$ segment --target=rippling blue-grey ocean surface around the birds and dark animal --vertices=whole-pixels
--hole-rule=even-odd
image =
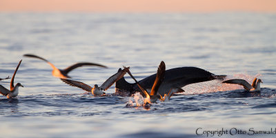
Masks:
[[[69,73],[90,86],[122,66],[144,79],[160,61],[166,69],[195,66],[264,83],[261,92],[195,83],[169,102],[129,108],[134,97],[111,95],[115,85],[108,97],[93,97],[52,77],[46,62],[23,57],[28,53],[57,68],[80,61],[108,66]],[[276,137],[276,14],[1,12],[0,78],[12,77],[21,59],[14,81],[24,87],[17,98],[0,97],[0,137]],[[10,79],[0,84],[9,88]]]

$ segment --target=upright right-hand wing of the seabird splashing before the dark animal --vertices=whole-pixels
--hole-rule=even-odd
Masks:
[[[153,86],[150,91],[150,95],[157,95],[157,91],[159,89],[159,86],[161,85],[164,76],[165,76],[165,71],[166,71],[166,65],[164,61],[161,61],[158,70],[157,70],[157,75],[155,78],[155,83],[153,83]]]

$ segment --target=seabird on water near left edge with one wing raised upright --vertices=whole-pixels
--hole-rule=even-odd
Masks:
[[[22,60],[21,60],[22,61]],[[15,74],[17,74],[17,70],[21,64],[21,61],[19,61],[17,68],[15,69],[13,76],[12,76],[12,80],[10,81],[10,90],[8,90],[7,88],[3,87],[0,85],[0,93],[4,96],[6,96],[8,99],[12,98],[12,97],[16,97],[19,93],[19,86],[23,87],[21,85],[21,83],[17,83],[17,85],[14,86],[14,77]]]

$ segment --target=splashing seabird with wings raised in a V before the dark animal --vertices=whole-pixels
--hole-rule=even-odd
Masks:
[[[128,75],[134,79],[135,83],[139,86],[142,92],[144,92],[144,95],[146,95],[146,100],[144,101],[144,105],[147,105],[147,103],[155,103],[157,99],[161,99],[161,101],[164,101],[165,99],[169,99],[172,96],[172,90],[168,93],[169,97],[167,94],[165,94],[165,97],[161,97],[160,94],[157,94],[157,91],[159,90],[159,86],[161,85],[162,81],[164,80],[165,76],[165,70],[166,70],[166,65],[164,61],[161,61],[159,64],[158,70],[157,70],[157,75],[155,77],[155,83],[153,84],[150,92],[148,92],[143,86],[139,84],[139,82],[135,79],[135,77],[132,76],[131,72],[128,70]],[[184,90],[183,90],[184,91]]]

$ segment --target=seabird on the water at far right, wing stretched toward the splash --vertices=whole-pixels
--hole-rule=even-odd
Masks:
[[[244,89],[248,90],[249,92],[259,92],[261,90],[261,83],[263,83],[263,81],[262,79],[255,78],[252,85],[250,85],[250,83],[244,79],[229,79],[227,81],[223,81],[222,83],[238,84],[240,86],[244,86]]]

